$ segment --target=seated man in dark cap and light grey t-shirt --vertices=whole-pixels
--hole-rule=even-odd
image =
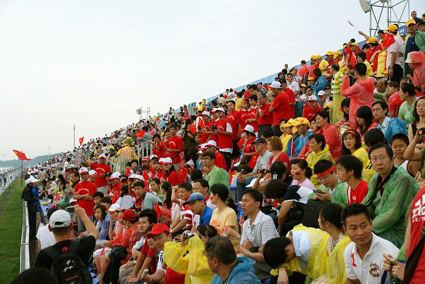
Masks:
[[[263,137],[258,137],[256,140],[252,142],[254,147],[256,148],[256,153],[260,155],[257,159],[256,166],[253,171],[248,174],[240,174],[239,179],[236,182],[237,188],[237,201],[239,202],[242,198],[242,192],[246,189],[246,185],[248,185],[252,179],[258,177],[259,169],[268,169],[270,158],[273,156],[273,153],[269,152],[266,148],[267,141]],[[209,186],[212,184],[209,183]]]

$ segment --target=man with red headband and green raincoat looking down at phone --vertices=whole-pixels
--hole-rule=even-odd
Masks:
[[[331,161],[320,160],[314,165],[317,180],[321,183],[320,192],[314,192],[309,199],[331,201],[341,206],[346,206],[344,196],[347,195],[347,183],[339,181],[336,169]]]

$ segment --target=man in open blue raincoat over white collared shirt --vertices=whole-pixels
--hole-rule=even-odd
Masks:
[[[372,104],[372,112],[375,119],[379,122],[376,128],[384,133],[388,143],[390,143],[391,137],[395,134],[403,133],[407,135],[407,122],[397,117],[388,117],[388,104],[385,101],[374,102]]]

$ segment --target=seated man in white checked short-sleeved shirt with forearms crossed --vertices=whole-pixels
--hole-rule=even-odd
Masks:
[[[267,241],[279,236],[272,217],[261,212],[262,204],[263,196],[258,191],[246,190],[242,193],[242,211],[248,219],[243,223],[240,256],[246,256],[256,261],[253,268],[261,281],[270,278],[272,269],[265,263],[262,247]]]

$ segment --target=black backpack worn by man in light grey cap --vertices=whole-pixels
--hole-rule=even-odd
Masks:
[[[53,247],[43,250],[52,261],[52,273],[59,284],[92,283],[87,265],[76,254],[80,241],[71,241],[66,252],[59,252]]]

